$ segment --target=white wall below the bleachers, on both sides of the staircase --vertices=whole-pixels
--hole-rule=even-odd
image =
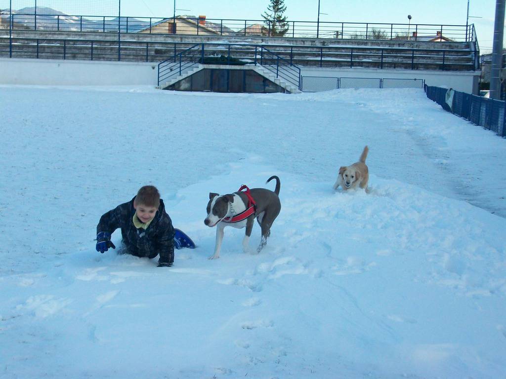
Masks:
[[[156,85],[157,70],[157,63],[1,58],[0,84]],[[468,93],[473,93],[479,75],[480,71],[301,68],[301,76],[416,78]]]

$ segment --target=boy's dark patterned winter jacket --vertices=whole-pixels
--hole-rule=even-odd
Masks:
[[[173,263],[174,227],[165,212],[163,200],[160,199],[160,207],[146,230],[137,229],[132,221],[135,214],[134,200],[135,197],[102,215],[97,225],[97,234],[101,231],[112,234],[114,230],[121,228],[126,253],[148,258],[160,254],[159,263]]]

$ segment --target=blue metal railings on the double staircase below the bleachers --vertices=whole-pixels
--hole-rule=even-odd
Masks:
[[[190,70],[197,64],[204,64],[205,58],[205,43],[197,43],[191,48],[176,54],[173,59],[167,59],[158,63],[158,86],[160,83],[167,81],[174,76],[181,75],[184,72]],[[255,48],[254,61],[249,62],[250,64],[260,64],[267,70],[275,74],[276,78],[284,79],[289,84],[300,89],[301,87],[301,69],[293,65],[289,60],[284,59],[275,53],[269,51],[263,46],[249,45]],[[260,53],[258,52],[260,50]],[[207,48],[208,52],[212,52],[212,49]],[[260,56],[260,61],[259,61]],[[227,60],[223,64],[230,64],[233,57],[230,55],[230,44],[228,44],[228,55]]]

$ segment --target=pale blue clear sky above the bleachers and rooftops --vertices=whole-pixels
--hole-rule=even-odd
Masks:
[[[35,0],[12,0],[13,9],[33,6]],[[316,21],[320,4],[321,22],[379,22],[412,24],[466,25],[467,0],[426,0],[424,2],[355,0],[285,0],[285,15],[291,21]],[[207,19],[260,20],[269,0],[122,0],[121,14],[137,17],[168,17],[176,14],[205,15]],[[110,0],[39,0],[37,6],[47,6],[67,14],[117,15],[118,1]],[[9,8],[0,0],[0,8]],[[492,49],[495,2],[470,0],[469,23],[477,29],[482,53]],[[481,18],[475,18],[481,17]]]

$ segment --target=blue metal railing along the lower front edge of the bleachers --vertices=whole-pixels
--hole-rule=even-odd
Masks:
[[[5,41],[5,42],[3,42]],[[9,41],[9,43],[7,43]],[[12,42],[12,43],[11,43]],[[30,38],[0,37],[0,57],[61,59],[63,44],[66,43],[65,59],[78,60],[121,60],[136,62],[160,62],[163,59],[176,59],[183,49],[192,46],[188,42],[136,41],[122,40],[119,46],[116,40],[71,39],[71,38]],[[40,54],[36,55],[35,46],[40,44]],[[227,57],[254,61],[262,45],[205,43],[205,50]],[[475,69],[473,51],[458,49],[409,49],[385,48],[375,46],[322,46],[306,45],[267,46],[275,55],[295,64],[308,67],[371,67],[403,69]],[[257,49],[257,50],[256,50]],[[171,57],[171,58],[170,58]],[[284,62],[284,61],[282,61]]]

